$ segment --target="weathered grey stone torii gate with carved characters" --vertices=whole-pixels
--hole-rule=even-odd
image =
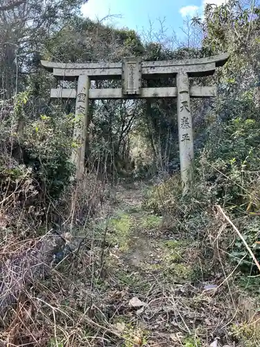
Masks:
[[[73,151],[72,162],[76,164],[76,177],[83,176],[89,99],[149,99],[176,98],[180,148],[180,171],[184,194],[193,181],[193,126],[190,98],[216,96],[216,87],[189,85],[189,77],[209,76],[216,67],[223,66],[228,54],[201,59],[165,60],[142,62],[141,58],[125,58],[116,63],[58,63],[42,60],[42,65],[62,80],[78,78],[78,88],[51,89],[51,98],[76,99],[75,141],[79,144]],[[141,87],[142,79],[151,77],[175,77],[176,87]],[[121,88],[90,89],[91,80],[120,79]]]

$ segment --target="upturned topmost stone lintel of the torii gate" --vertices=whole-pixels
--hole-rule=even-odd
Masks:
[[[219,56],[211,56],[200,59],[187,60],[158,60],[152,62],[141,62],[141,58],[125,58],[123,62],[81,62],[60,63],[42,60],[42,65],[64,80],[71,80],[82,74],[93,80],[121,78],[127,74],[128,69],[138,71],[143,78],[150,75],[167,76],[176,75],[180,72],[187,73],[190,77],[208,76],[214,74],[216,67],[223,66],[229,58],[228,53]]]

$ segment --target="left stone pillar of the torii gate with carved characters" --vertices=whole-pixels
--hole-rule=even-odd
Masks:
[[[71,162],[76,166],[76,179],[83,178],[85,170],[85,150],[87,139],[87,117],[89,111],[90,79],[87,75],[78,76],[76,96],[75,125],[73,142],[76,149],[71,154]]]

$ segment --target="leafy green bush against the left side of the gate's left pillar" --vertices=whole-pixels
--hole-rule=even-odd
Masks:
[[[53,198],[68,185],[73,169],[69,162],[73,149],[71,115],[58,117],[42,115],[26,126],[20,139],[24,162],[33,167],[35,179]]]

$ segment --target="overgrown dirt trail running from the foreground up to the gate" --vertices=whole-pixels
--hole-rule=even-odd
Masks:
[[[168,223],[143,207],[145,189],[119,188],[108,222],[100,223],[107,230],[103,300],[110,329],[122,337],[113,346],[195,347],[209,346],[216,337],[226,341],[221,328],[225,303],[198,280],[198,244],[174,235],[173,219]]]

